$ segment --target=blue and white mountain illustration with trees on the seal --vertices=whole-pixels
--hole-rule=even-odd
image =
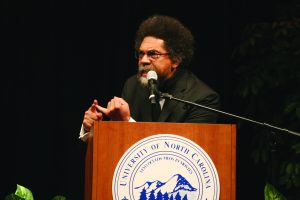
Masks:
[[[160,195],[168,195],[175,196],[180,194],[185,194],[185,198],[187,199],[187,193],[197,191],[196,188],[194,188],[185,177],[183,177],[180,174],[175,174],[171,178],[169,178],[166,182],[161,182],[159,180],[156,181],[147,181],[141,186],[135,187],[134,189],[138,190],[141,194],[140,199],[148,199],[146,196],[150,194],[150,196],[160,196]],[[180,192],[180,194],[179,194]],[[142,196],[144,196],[142,198]],[[151,197],[149,197],[151,199]],[[156,198],[157,199],[157,198]]]

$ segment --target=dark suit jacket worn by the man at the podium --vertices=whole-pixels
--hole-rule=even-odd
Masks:
[[[177,70],[174,77],[159,89],[173,97],[219,109],[219,95],[186,69]],[[140,122],[151,122],[149,90],[141,86],[136,75],[130,77],[123,88],[122,98],[130,107],[131,117]],[[158,118],[160,122],[216,123],[217,113],[166,99]]]

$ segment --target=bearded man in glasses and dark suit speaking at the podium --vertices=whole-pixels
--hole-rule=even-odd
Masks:
[[[114,121],[216,122],[215,112],[169,99],[158,99],[161,112],[153,115],[147,80],[150,70],[158,75],[160,92],[214,109],[220,106],[219,95],[186,69],[194,54],[194,38],[181,22],[169,16],[149,17],[137,31],[135,50],[137,75],[126,81],[122,98],[114,97],[106,108],[94,100],[85,112],[80,138],[85,140],[94,121],[102,120],[103,114]]]

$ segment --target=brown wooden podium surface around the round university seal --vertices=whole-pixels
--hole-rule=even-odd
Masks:
[[[175,134],[198,144],[216,167],[220,199],[236,199],[235,125],[100,121],[87,140],[85,200],[112,200],[112,181],[120,158],[133,144],[156,134]]]

